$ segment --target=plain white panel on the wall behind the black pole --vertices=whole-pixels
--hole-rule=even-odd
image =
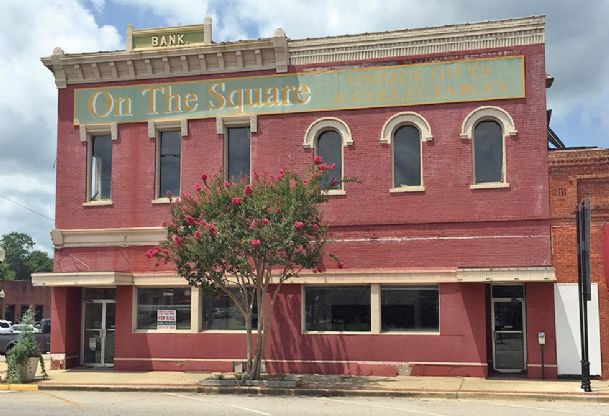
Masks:
[[[554,285],[556,317],[556,354],[559,375],[581,375],[581,342],[577,283]],[[592,283],[592,300],[588,302],[588,355],[590,375],[601,375],[601,342],[598,318],[598,285]]]

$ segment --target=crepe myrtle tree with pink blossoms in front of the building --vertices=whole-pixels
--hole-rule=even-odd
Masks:
[[[247,332],[245,379],[260,379],[281,285],[302,269],[323,272],[325,255],[343,267],[325,252],[328,229],[321,223],[327,195],[320,185],[325,181],[336,186],[334,168],[315,157],[302,177],[281,170],[278,176],[254,174],[250,183],[249,178],[225,181],[221,175],[208,179],[204,174],[193,196],[172,204],[168,238],[147,253],[157,264],[174,263],[189,285],[221,291],[234,302]]]

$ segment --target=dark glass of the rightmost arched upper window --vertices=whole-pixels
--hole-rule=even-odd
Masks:
[[[503,129],[495,120],[474,127],[474,184],[504,182]]]

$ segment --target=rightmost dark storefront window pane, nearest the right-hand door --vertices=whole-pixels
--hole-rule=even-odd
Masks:
[[[381,287],[382,331],[438,331],[437,287]]]

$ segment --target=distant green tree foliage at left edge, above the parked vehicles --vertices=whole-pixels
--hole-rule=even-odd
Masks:
[[[45,252],[33,250],[34,244],[32,237],[19,232],[0,238],[0,247],[6,251],[6,260],[0,265],[0,279],[28,280],[32,273],[53,270],[53,260]]]

